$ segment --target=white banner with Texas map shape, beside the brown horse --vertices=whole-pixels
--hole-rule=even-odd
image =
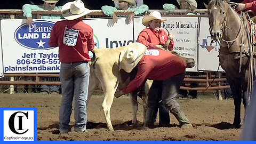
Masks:
[[[204,71],[217,71],[219,66],[218,55],[220,42],[217,41],[211,45],[208,18],[200,19],[198,35],[198,69]],[[221,66],[219,71],[224,71]]]

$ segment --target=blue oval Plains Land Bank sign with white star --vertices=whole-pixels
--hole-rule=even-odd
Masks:
[[[14,33],[15,41],[23,47],[31,50],[49,50],[50,33],[54,22],[46,20],[34,20],[31,26],[26,23],[19,26]]]

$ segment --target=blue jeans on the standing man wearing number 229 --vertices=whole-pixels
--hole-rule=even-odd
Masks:
[[[87,61],[61,63],[60,82],[62,99],[59,111],[60,133],[70,130],[69,122],[73,97],[75,98],[75,131],[86,130],[86,101],[89,86],[90,67]]]

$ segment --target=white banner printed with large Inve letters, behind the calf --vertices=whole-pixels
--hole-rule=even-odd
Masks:
[[[134,42],[133,25],[127,18],[118,18],[114,23],[112,18],[84,19],[92,27],[95,48],[115,48]]]

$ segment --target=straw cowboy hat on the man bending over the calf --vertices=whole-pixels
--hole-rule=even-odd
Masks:
[[[137,66],[146,50],[147,47],[141,43],[132,43],[126,45],[119,57],[119,69],[123,69],[127,73],[130,73],[132,69]]]

